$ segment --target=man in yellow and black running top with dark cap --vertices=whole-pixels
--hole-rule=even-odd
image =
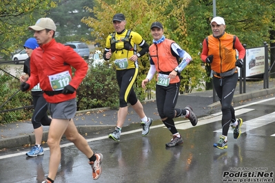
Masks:
[[[119,84],[119,112],[116,129],[110,133],[109,138],[119,142],[121,128],[128,114],[128,103],[141,118],[141,125],[143,125],[141,135],[146,136],[150,132],[153,120],[145,115],[143,105],[136,98],[133,88],[139,72],[138,58],[148,52],[149,45],[139,33],[125,29],[124,14],[115,14],[112,23],[115,32],[107,37],[103,58],[108,61],[113,54],[114,65],[116,65],[116,80]],[[141,47],[140,52],[136,50],[137,45]]]

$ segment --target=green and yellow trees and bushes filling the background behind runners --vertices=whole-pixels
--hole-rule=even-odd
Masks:
[[[96,49],[103,52],[105,38],[114,31],[112,16],[121,12],[127,20],[126,28],[139,32],[147,43],[152,43],[150,24],[161,21],[165,37],[173,39],[191,54],[193,61],[181,73],[183,79],[180,88],[181,94],[190,93],[195,88],[205,89],[205,83],[210,83],[210,75],[200,59],[200,53],[203,39],[212,34],[212,3],[212,0],[3,0],[0,2],[0,56],[8,59],[14,50],[23,49],[23,42],[32,36],[28,26],[34,25],[40,17],[50,17],[57,23],[58,42],[100,43],[102,47]],[[262,46],[264,41],[271,46],[275,45],[274,9],[274,0],[216,1],[216,15],[225,18],[226,31],[236,34],[247,48]],[[150,82],[146,90],[141,88],[141,81],[150,67],[148,59],[147,55],[139,58],[139,76],[134,87],[140,100],[150,99],[151,91],[154,91],[154,82]],[[104,66],[91,66],[77,91],[79,110],[118,105],[114,67],[108,67],[112,61],[113,58]],[[271,64],[273,63],[272,57]],[[0,73],[3,86],[0,87],[0,103],[5,103],[17,92],[19,83],[17,79]],[[0,110],[29,105],[32,105],[30,94],[18,92],[12,102]],[[0,122],[26,120],[30,118],[31,111],[28,108],[1,113]]]

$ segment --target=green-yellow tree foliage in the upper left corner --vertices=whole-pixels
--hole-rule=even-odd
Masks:
[[[0,52],[9,55],[21,47],[23,38],[32,36],[28,26],[44,17],[57,4],[52,0],[2,0],[0,1]],[[25,39],[26,40],[26,39]],[[22,47],[23,48],[23,47]]]

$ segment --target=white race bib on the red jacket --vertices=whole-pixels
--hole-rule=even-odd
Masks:
[[[72,80],[72,77],[69,71],[64,71],[59,74],[54,74],[54,75],[48,76],[48,78],[50,80],[50,85],[53,91],[58,91],[63,89],[65,86],[69,85],[70,81]]]

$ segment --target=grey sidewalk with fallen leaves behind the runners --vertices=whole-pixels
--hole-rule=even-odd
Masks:
[[[245,94],[240,94],[240,87],[238,83],[234,94],[233,103],[240,103],[242,101],[261,96],[272,96],[272,94],[275,94],[275,79],[269,80],[268,89],[263,89],[263,80],[248,80],[246,82]],[[215,98],[218,100],[217,97]],[[184,109],[186,105],[190,105],[192,107],[198,118],[221,111],[220,103],[213,103],[212,90],[180,95],[176,107]],[[145,114],[148,117],[153,118],[154,120],[159,120],[155,100],[145,101],[143,103],[143,107]],[[117,109],[110,109],[108,107],[78,111],[77,115],[74,117],[74,123],[81,134],[92,133],[102,129],[114,129],[114,127],[116,127],[117,111]],[[132,107],[129,107],[128,116],[125,120],[124,127],[132,123],[139,122],[139,116],[136,115]],[[43,141],[47,140],[48,128],[49,127],[43,127]],[[0,149],[23,147],[28,144],[34,144],[35,142],[32,122],[30,122],[30,120],[0,125],[0,137]]]

